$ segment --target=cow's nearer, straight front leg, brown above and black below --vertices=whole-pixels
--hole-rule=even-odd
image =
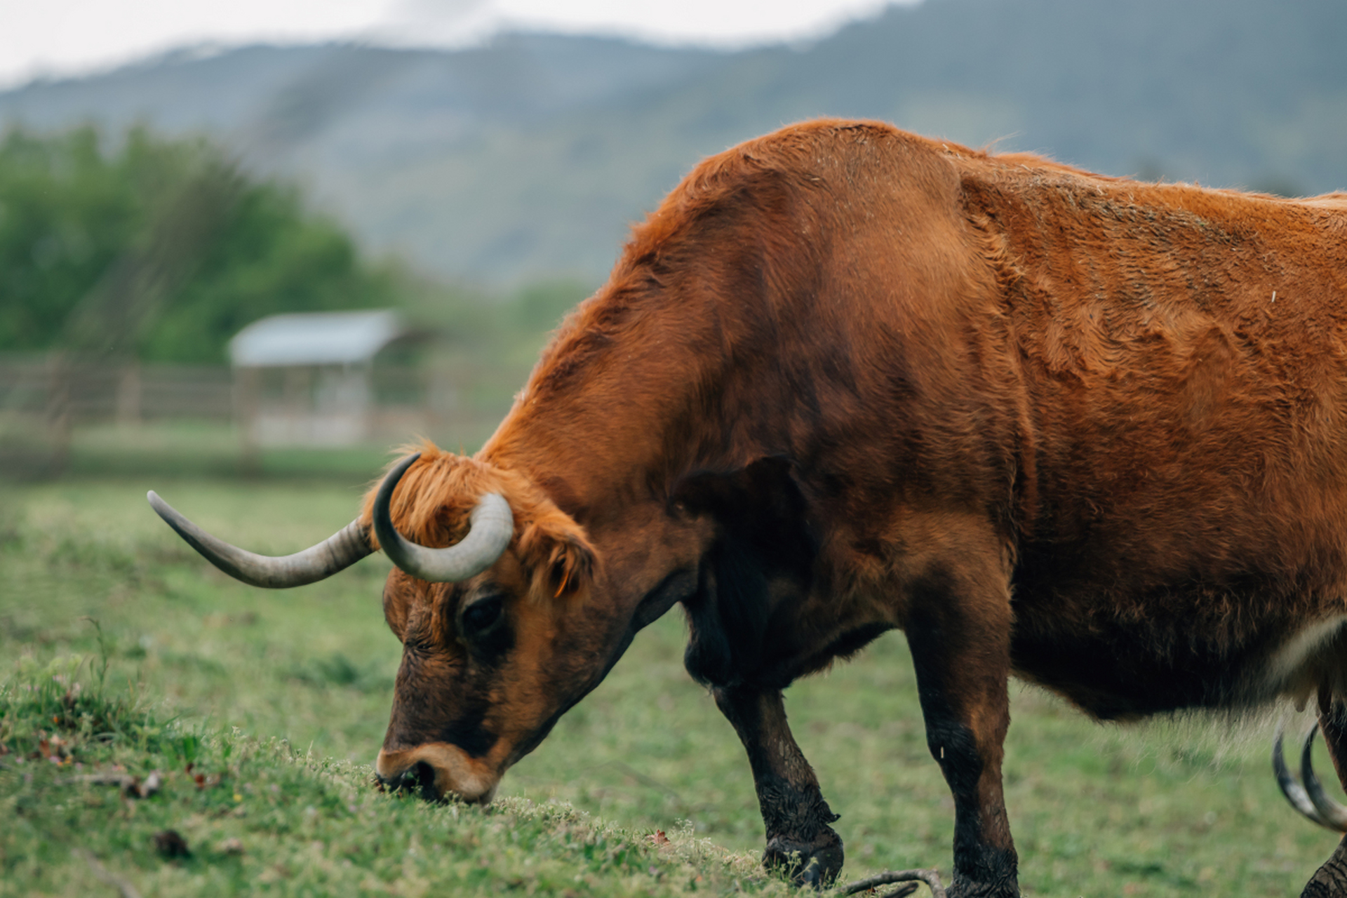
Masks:
[[[982,584],[932,578],[911,591],[905,630],[927,745],[954,793],[951,897],[1020,894],[1001,790],[1010,626],[1009,594],[994,578]]]

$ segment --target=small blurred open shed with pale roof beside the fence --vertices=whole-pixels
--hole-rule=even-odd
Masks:
[[[374,357],[418,339],[392,310],[261,318],[229,341],[252,446],[349,446],[370,436]]]

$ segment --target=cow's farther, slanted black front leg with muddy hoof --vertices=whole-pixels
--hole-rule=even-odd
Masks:
[[[715,688],[715,704],[734,724],[753,767],[758,808],[766,825],[762,866],[784,867],[796,883],[819,887],[842,870],[838,819],[785,722],[780,691]]]

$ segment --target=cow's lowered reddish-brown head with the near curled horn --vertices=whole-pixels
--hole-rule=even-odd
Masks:
[[[362,520],[397,565],[384,617],[403,642],[376,771],[489,801],[607,668],[610,619],[586,607],[594,549],[524,477],[432,448],[388,474]]]

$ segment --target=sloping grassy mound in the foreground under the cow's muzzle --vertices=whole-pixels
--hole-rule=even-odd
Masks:
[[[164,895],[787,890],[690,831],[660,848],[566,805],[383,794],[366,767],[164,723],[101,676],[81,688],[71,666],[30,668],[0,689],[0,895],[94,894],[109,880]],[[109,771],[162,785],[128,796],[98,781]]]

